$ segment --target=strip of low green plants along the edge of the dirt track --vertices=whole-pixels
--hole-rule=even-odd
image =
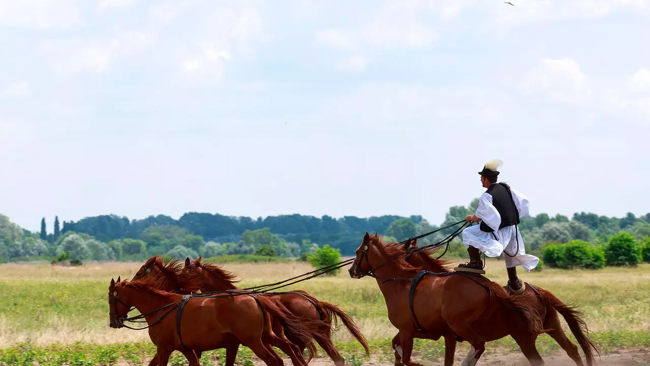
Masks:
[[[646,331],[620,331],[597,333],[595,338],[601,344],[601,350],[610,352],[620,348],[633,348],[650,346],[650,333]],[[575,341],[571,337],[572,341]],[[344,356],[350,365],[360,365],[367,360],[361,346],[355,341],[337,342],[337,349]],[[537,342],[539,354],[548,356],[561,351],[557,343],[547,335],[541,335]],[[445,356],[445,343],[415,339],[413,356],[427,361],[438,361]],[[458,354],[465,354],[469,350],[467,343],[461,343],[456,347]],[[499,339],[486,345],[486,353],[493,352],[519,353],[517,344],[510,337]],[[327,357],[319,348],[319,355]],[[74,343],[72,345],[50,345],[38,347],[29,343],[21,343],[10,348],[0,350],[0,365],[12,366],[33,366],[37,361],[40,366],[95,366],[115,365],[122,361],[131,365],[146,365],[153,354],[155,347],[151,343],[116,343],[113,345],[87,345]],[[391,348],[391,339],[372,339],[370,341],[371,355],[380,362],[391,362],[394,360],[394,351]],[[225,350],[214,350],[204,352],[201,357],[201,365],[219,365],[224,363]],[[237,353],[237,364],[247,365],[255,360],[254,355],[246,347],[240,346]],[[180,353],[174,352],[170,358],[170,365],[186,365],[187,359]]]

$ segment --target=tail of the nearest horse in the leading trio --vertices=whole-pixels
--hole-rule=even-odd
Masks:
[[[255,296],[257,303],[262,309],[274,319],[277,319],[284,329],[287,339],[294,345],[305,345],[307,349],[307,363],[317,356],[317,348],[314,343],[314,336],[318,333],[318,327],[324,323],[322,320],[298,318],[280,302],[276,302],[267,296]]]

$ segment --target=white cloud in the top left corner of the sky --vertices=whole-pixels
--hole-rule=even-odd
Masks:
[[[0,25],[42,30],[83,24],[76,0],[0,0]]]

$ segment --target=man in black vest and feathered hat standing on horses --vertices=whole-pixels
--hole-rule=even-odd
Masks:
[[[528,199],[503,182],[497,183],[500,160],[491,160],[478,172],[487,190],[478,200],[476,213],[468,215],[468,222],[482,221],[480,225],[463,230],[463,243],[469,253],[469,262],[459,264],[456,270],[485,274],[480,253],[487,257],[499,257],[505,253],[508,270],[508,288],[512,292],[524,289],[517,277],[517,266],[530,272],[539,263],[538,257],[526,254],[521,233],[517,228],[519,218],[529,215]]]

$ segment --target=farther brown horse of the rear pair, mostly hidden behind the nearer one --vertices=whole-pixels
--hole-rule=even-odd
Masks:
[[[411,240],[406,242],[402,246],[403,251],[413,251],[417,248],[417,240]],[[421,249],[419,251],[413,251],[404,256],[406,261],[415,267],[421,267],[423,270],[434,272],[434,273],[448,273],[450,270],[448,266],[451,264],[448,260],[435,259],[432,257],[440,247],[432,247],[428,249]],[[575,306],[565,305],[562,303],[556,296],[547,290],[543,290],[537,286],[532,287],[530,285],[526,286],[523,294],[528,298],[528,302],[534,304],[538,310],[540,317],[544,319],[543,327],[547,329],[546,332],[548,335],[554,339],[558,345],[560,345],[567,355],[575,361],[576,365],[583,366],[582,359],[578,353],[578,347],[571,343],[571,340],[567,337],[562,330],[562,324],[560,324],[560,317],[558,313],[564,317],[564,320],[569,325],[569,329],[573,333],[574,337],[577,339],[578,344],[584,352],[584,358],[588,366],[593,365],[593,352],[599,353],[599,350],[595,343],[591,341],[586,336],[588,333],[586,322],[582,318],[580,312],[576,310]],[[393,348],[395,348],[395,365],[401,364],[401,358],[397,352],[399,347],[399,333],[393,339]],[[539,355],[536,349],[535,344],[526,345],[526,347],[534,350],[530,352],[531,355]],[[447,359],[447,354],[445,354],[445,365],[451,365],[453,363],[453,358]],[[534,361],[528,358],[530,363]],[[541,361],[541,357],[535,361]]]

